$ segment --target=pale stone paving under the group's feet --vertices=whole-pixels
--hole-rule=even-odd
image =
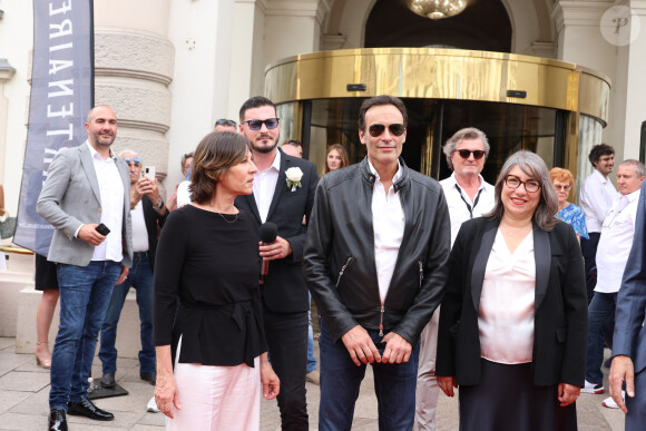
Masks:
[[[32,354],[16,354],[14,339],[0,337],[0,430],[45,430],[49,413],[49,373],[36,365]],[[317,356],[317,343],[315,343]],[[609,351],[606,351],[606,355]],[[117,380],[130,393],[126,396],[98,400],[97,404],[115,413],[115,421],[97,422],[85,418],[68,417],[70,430],[133,430],[160,431],[165,427],[161,413],[147,413],[146,404],[153,396],[153,386],[139,380],[136,360],[119,359]],[[100,375],[100,361],[95,359],[94,375]],[[607,371],[606,371],[607,373]],[[607,376],[606,382],[607,384]],[[606,409],[601,401],[606,395],[581,394],[577,402],[579,430],[624,429],[619,410]],[[310,429],[319,424],[319,386],[307,383]],[[280,414],[275,401],[263,401],[261,430],[280,430]],[[458,401],[440,394],[438,430],[458,430]],[[378,430],[376,398],[372,373],[366,372],[356,402],[353,430]]]

